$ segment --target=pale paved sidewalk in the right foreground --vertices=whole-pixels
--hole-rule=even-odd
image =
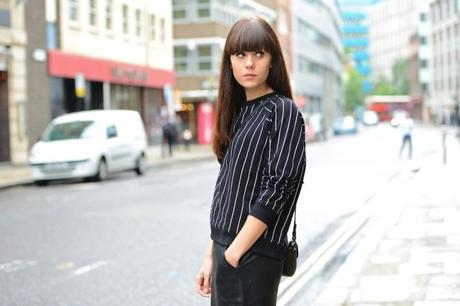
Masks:
[[[460,305],[460,145],[410,167],[314,306]]]

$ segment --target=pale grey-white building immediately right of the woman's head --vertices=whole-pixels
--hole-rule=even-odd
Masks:
[[[293,89],[302,110],[323,116],[325,128],[341,115],[343,48],[337,1],[293,0]]]

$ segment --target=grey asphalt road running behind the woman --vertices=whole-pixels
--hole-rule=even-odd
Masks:
[[[301,258],[398,171],[438,154],[441,134],[416,128],[411,161],[398,157],[400,142],[381,124],[308,144]],[[194,279],[217,173],[216,161],[202,161],[0,191],[0,305],[208,305]]]

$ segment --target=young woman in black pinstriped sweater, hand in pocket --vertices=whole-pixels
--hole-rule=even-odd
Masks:
[[[221,164],[196,290],[213,306],[272,306],[305,173],[305,127],[280,44],[262,18],[225,43],[213,149]]]

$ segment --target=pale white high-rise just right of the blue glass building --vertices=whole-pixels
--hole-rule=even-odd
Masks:
[[[408,63],[412,112],[423,118],[423,104],[430,97],[429,0],[387,0],[370,10],[370,59],[373,82],[393,78],[398,61]]]

